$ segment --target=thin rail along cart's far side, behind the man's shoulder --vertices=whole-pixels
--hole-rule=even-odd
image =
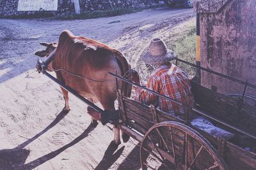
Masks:
[[[201,66],[196,66],[195,64],[192,64],[190,62],[187,62],[185,60],[182,60],[182,59],[176,59],[176,60],[179,60],[180,62],[183,62],[185,64],[188,64],[189,66],[193,66],[193,67],[196,67],[196,68],[200,68],[204,71],[207,71],[209,73],[212,73],[212,74],[216,74],[217,76],[221,76],[223,78],[227,78],[228,80],[232,80],[232,81],[236,81],[237,83],[241,83],[242,85],[248,85],[249,87],[252,87],[253,89],[256,89],[256,85],[252,85],[251,83],[246,83],[245,81],[242,81],[242,80],[238,80],[236,78],[233,78],[233,77],[230,77],[230,76],[227,76],[225,74],[221,74],[221,73],[218,73],[216,71],[212,71],[211,69],[206,69],[205,67],[201,67]]]

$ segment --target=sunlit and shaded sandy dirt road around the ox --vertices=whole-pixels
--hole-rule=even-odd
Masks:
[[[111,147],[112,125],[89,127],[86,104],[70,95],[71,111],[61,112],[60,87],[36,73],[33,53],[68,29],[117,48],[136,67],[150,39],[169,37],[187,20],[193,10],[168,8],[91,20],[1,19],[0,169],[140,169],[138,142]]]

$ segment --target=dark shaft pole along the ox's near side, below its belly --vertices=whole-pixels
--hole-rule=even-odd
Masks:
[[[83,101],[84,103],[88,104],[89,106],[91,106],[94,110],[99,111],[100,113],[103,111],[102,109],[100,109],[98,106],[96,106],[95,104],[93,104],[92,102],[88,101],[87,99],[85,99],[83,96],[81,96],[80,94],[78,94],[75,90],[71,89],[70,87],[68,87],[67,85],[65,85],[64,83],[62,83],[60,80],[56,79],[54,76],[52,76],[51,74],[47,73],[47,71],[44,71],[43,74],[45,74],[45,76],[51,78],[51,80],[53,80],[55,83],[57,83],[58,85],[60,85],[61,87],[63,87],[63,89],[67,90],[68,92],[74,94],[74,96],[76,96],[78,99],[80,99],[81,101]]]

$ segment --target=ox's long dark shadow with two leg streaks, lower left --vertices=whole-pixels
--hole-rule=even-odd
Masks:
[[[65,115],[67,115],[67,111],[61,111],[58,116],[53,120],[51,124],[49,124],[45,129],[38,134],[36,134],[33,138],[28,139],[28,141],[25,141],[24,143],[20,144],[19,146],[13,148],[13,149],[4,149],[0,150],[0,170],[2,169],[34,169],[37,166],[40,166],[47,160],[50,160],[54,157],[56,157],[58,154],[69,148],[70,146],[75,145],[82,139],[86,138],[88,134],[95,129],[95,126],[89,125],[87,129],[76,139],[74,139],[72,142],[68,143],[67,145],[61,147],[58,150],[55,150],[54,152],[48,153],[47,155],[44,155],[36,160],[33,160],[32,162],[29,162],[28,164],[25,164],[26,159],[29,156],[30,151],[24,149],[24,147],[28,146],[29,143],[35,141],[35,139],[39,138],[42,134],[49,131],[54,125],[58,124],[60,120],[62,120]]]

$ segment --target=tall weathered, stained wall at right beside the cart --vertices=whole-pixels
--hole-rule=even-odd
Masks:
[[[256,1],[196,0],[201,66],[256,85]],[[223,94],[243,93],[239,83],[202,71],[202,85]],[[256,90],[247,94],[256,96]]]

